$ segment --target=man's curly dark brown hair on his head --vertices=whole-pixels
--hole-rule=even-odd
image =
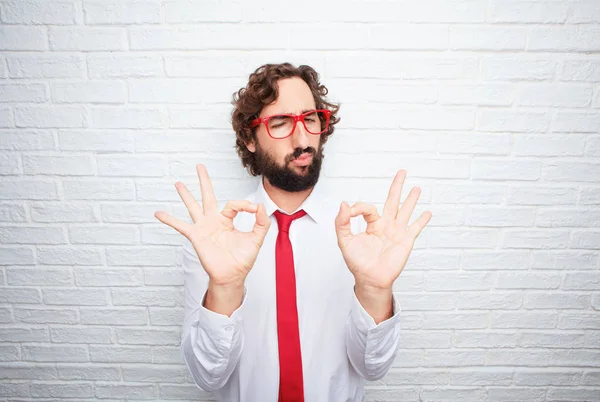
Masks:
[[[321,145],[327,142],[333,134],[334,126],[340,121],[337,117],[340,105],[326,100],[327,87],[319,82],[319,74],[314,68],[307,65],[295,67],[290,63],[260,66],[250,74],[246,87],[233,94],[232,103],[235,108],[231,114],[231,124],[236,135],[236,151],[242,159],[242,165],[248,168],[252,176],[258,176],[262,172],[258,169],[256,155],[246,147],[246,143],[256,140],[256,130],[250,127],[250,122],[258,117],[264,106],[277,99],[277,80],[291,77],[302,78],[308,84],[317,109],[331,110],[329,127],[321,134]]]

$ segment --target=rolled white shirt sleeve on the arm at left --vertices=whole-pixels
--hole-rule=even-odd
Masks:
[[[244,344],[242,305],[231,317],[203,306],[208,288],[208,274],[202,267],[193,246],[183,247],[184,320],[181,353],[194,382],[204,391],[223,387],[237,366]]]

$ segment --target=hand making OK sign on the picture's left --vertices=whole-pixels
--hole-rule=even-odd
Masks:
[[[157,211],[154,216],[192,243],[210,278],[209,292],[211,286],[218,292],[228,288],[243,289],[246,276],[252,269],[271,226],[271,220],[264,205],[254,205],[247,200],[229,201],[223,211],[219,211],[206,167],[198,164],[196,171],[200,179],[202,206],[183,183],[175,183],[193,223],[174,218],[164,211]],[[233,218],[242,211],[256,214],[251,232],[240,232],[233,226]]]

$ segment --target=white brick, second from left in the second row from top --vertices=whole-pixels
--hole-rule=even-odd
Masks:
[[[127,49],[127,32],[114,27],[50,27],[50,50],[103,51]]]

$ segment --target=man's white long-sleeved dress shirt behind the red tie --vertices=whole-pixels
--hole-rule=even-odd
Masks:
[[[279,393],[279,352],[275,298],[277,205],[262,180],[247,200],[263,203],[271,227],[248,274],[241,306],[231,317],[203,307],[208,275],[186,241],[185,317],[181,351],[196,384],[215,391],[219,401],[276,402]],[[304,396],[307,402],[363,401],[363,378],[382,378],[399,344],[400,304],[393,297],[393,316],[378,325],[354,293],[354,277],[337,244],[335,217],[339,202],[325,196],[317,184],[298,207],[307,215],[292,222],[298,325]],[[282,211],[283,212],[283,211]],[[285,212],[284,212],[285,213]],[[255,215],[240,213],[234,226],[251,231]],[[352,231],[364,230],[362,217]]]

